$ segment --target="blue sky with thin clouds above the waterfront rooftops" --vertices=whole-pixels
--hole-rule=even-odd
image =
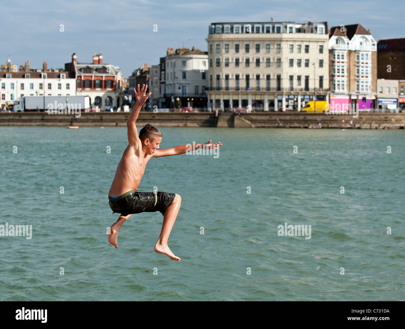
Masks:
[[[405,37],[405,2],[394,0],[205,0],[4,1],[0,5],[0,63],[30,61],[30,68],[64,67],[72,53],[78,62],[118,65],[125,77],[142,63],[158,64],[168,47],[207,51],[208,26],[232,21],[328,21],[329,28],[360,23],[374,38]],[[309,18],[310,17],[310,18]],[[64,24],[64,32],[60,32]],[[158,32],[153,32],[153,24]]]

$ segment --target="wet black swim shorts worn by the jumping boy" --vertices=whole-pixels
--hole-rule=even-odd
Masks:
[[[141,212],[160,211],[162,215],[173,202],[176,195],[167,192],[136,192],[135,190],[122,194],[117,199],[110,196],[109,205],[114,213],[127,216]]]

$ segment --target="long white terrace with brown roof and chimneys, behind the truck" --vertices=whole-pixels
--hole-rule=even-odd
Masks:
[[[28,60],[24,66],[11,63],[10,58],[6,65],[2,65],[0,72],[0,105],[13,105],[14,101],[23,96],[75,96],[75,75],[63,69],[48,70],[47,62],[43,68],[30,69]]]

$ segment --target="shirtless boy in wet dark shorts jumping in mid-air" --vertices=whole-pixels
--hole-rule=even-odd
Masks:
[[[204,144],[179,145],[170,149],[158,150],[159,144],[162,141],[162,133],[158,128],[151,126],[151,124],[146,124],[139,132],[138,137],[135,122],[142,105],[145,104],[148,97],[152,94],[149,92],[146,95],[147,88],[147,85],[142,85],[142,89],[139,90],[138,85],[138,92],[134,88],[136,104],[127,122],[128,146],[118,164],[108,193],[109,205],[113,210],[113,214],[118,213],[121,216],[111,225],[108,241],[115,248],[118,248],[118,231],[132,214],[160,211],[163,215],[162,231],[154,250],[169,256],[175,261],[179,261],[180,258],[175,256],[167,246],[167,240],[179,213],[181,197],[179,194],[166,192],[137,192],[139,182],[141,182],[146,164],[151,158],[184,154],[187,151],[194,151],[198,148],[217,149],[222,144],[211,144],[211,141],[209,141]]]

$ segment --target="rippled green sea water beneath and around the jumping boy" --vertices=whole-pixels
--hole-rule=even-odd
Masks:
[[[139,185],[181,195],[180,262],[153,251],[159,212],[107,241],[126,128],[0,127],[0,225],[32,225],[0,236],[1,300],[405,300],[404,130],[161,131],[161,149],[224,144],[151,159]]]

